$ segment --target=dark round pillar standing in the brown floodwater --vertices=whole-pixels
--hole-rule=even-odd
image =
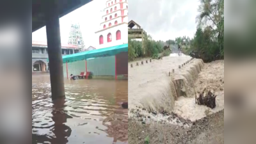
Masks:
[[[60,20],[58,15],[58,1],[47,1],[46,14],[46,34],[49,56],[49,69],[51,79],[52,99],[65,97],[63,60],[61,54]]]

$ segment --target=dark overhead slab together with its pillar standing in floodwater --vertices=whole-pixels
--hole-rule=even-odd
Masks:
[[[65,97],[59,19],[90,1],[92,0],[32,1],[32,33],[46,26],[52,99]],[[45,63],[38,65],[40,70],[45,70],[45,67]]]

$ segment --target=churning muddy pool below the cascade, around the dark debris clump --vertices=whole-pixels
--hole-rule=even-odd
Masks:
[[[216,113],[224,109],[224,61],[205,63],[193,86],[196,93],[203,92],[204,90],[214,92],[217,95],[216,108],[210,109],[206,106],[195,104],[195,92],[188,90],[192,97],[179,97],[175,101],[174,113],[182,116],[182,118],[195,121],[207,114]]]

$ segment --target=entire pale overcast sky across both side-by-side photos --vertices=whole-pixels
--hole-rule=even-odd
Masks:
[[[175,39],[177,36],[193,37],[196,31],[198,0],[129,0],[129,20],[134,20],[154,40]],[[99,38],[95,31],[102,22],[100,10],[106,0],[92,2],[68,13],[60,19],[61,43],[68,43],[70,24],[79,22],[85,47],[96,47]],[[45,27],[32,33],[32,40],[46,42]]]

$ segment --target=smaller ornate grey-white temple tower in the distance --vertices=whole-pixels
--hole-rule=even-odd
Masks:
[[[76,45],[77,47],[79,47],[79,51],[84,49],[84,40],[79,24],[71,24],[68,37],[68,44]]]

